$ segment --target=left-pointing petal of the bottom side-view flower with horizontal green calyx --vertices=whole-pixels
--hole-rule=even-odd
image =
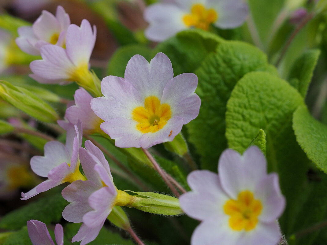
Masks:
[[[73,223],[83,222],[83,216],[92,211],[88,198],[101,186],[89,180],[77,180],[65,187],[61,191],[62,197],[71,203],[62,211],[62,217]]]

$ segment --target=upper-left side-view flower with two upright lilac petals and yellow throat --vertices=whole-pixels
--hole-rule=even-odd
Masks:
[[[65,84],[77,81],[92,86],[89,61],[96,39],[96,28],[87,20],[81,26],[70,25],[66,33],[66,48],[58,45],[41,47],[42,60],[32,61],[30,76],[40,83]]]

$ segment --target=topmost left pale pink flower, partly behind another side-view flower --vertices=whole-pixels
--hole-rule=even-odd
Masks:
[[[40,48],[44,45],[55,44],[61,47],[65,45],[69,25],[69,15],[61,6],[58,6],[56,16],[43,10],[33,26],[18,28],[19,37],[16,44],[28,54],[40,55]]]

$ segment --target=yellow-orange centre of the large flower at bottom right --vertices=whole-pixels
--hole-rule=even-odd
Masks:
[[[250,191],[241,191],[237,200],[230,199],[224,205],[225,214],[230,216],[229,226],[235,231],[254,229],[261,211],[261,201],[255,200]]]

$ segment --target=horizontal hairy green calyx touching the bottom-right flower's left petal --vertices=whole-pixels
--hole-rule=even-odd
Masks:
[[[180,202],[176,197],[155,192],[126,191],[136,193],[137,195],[134,197],[142,198],[131,203],[128,207],[133,207],[152,214],[180,215],[183,213]]]

